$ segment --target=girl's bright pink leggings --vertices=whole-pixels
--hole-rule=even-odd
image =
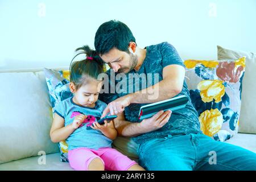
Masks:
[[[114,148],[76,148],[68,151],[69,165],[78,171],[88,171],[88,166],[93,159],[98,158],[108,171],[127,171],[131,166],[137,164],[134,160]]]

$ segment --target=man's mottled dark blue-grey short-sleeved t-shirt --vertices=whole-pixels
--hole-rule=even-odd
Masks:
[[[146,77],[147,86],[145,86],[145,82],[142,81],[142,79],[131,79],[129,73],[126,73],[125,75],[127,78],[127,86],[126,88],[121,87],[121,89],[118,90],[118,82],[122,81],[123,78],[115,78],[114,82],[112,82],[113,79],[110,78],[110,75],[114,74],[116,76],[118,73],[113,73],[113,70],[109,69],[106,72],[109,76],[109,91],[115,87],[115,90],[117,90],[118,92],[102,93],[100,94],[99,98],[100,100],[109,104],[109,102],[114,101],[119,97],[125,96],[126,94],[133,93],[138,90],[147,88],[148,86],[154,85],[158,81],[163,80],[163,68],[171,64],[178,64],[185,68],[183,61],[178,55],[176,49],[170,43],[163,42],[153,46],[148,46],[146,47],[146,58],[144,59],[143,64],[141,65],[139,71],[137,72],[133,69],[129,72],[137,75],[140,75],[141,73],[151,75],[152,79],[149,79],[150,77]],[[158,80],[154,80],[154,78],[156,78],[156,76],[154,76],[154,73],[158,75]],[[133,85],[137,86],[134,86],[133,88]],[[130,88],[133,88],[133,92],[131,92]],[[200,131],[200,122],[198,119],[198,114],[195,107],[193,107],[191,103],[191,99],[189,97],[189,90],[185,80],[183,84],[183,89],[177,96],[180,95],[185,95],[189,98],[188,104],[185,106],[185,108],[173,111],[170,120],[162,128],[155,131],[151,131],[150,133],[141,134],[137,137],[133,137],[133,140],[136,143],[141,144],[146,140],[162,138],[166,137],[167,135],[202,133]],[[126,120],[130,122],[141,122],[138,119],[138,115],[139,109],[143,105],[146,104],[130,104],[129,106],[127,106],[124,111]]]

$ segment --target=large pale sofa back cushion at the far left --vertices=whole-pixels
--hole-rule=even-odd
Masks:
[[[0,163],[59,151],[43,72],[0,73]]]

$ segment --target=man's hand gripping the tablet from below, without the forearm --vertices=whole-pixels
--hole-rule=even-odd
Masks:
[[[143,119],[140,123],[142,133],[148,133],[150,131],[158,130],[169,121],[171,117],[171,110],[159,111],[151,118]]]

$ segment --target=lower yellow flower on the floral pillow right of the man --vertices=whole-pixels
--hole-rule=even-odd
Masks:
[[[218,109],[205,110],[199,117],[201,131],[212,137],[222,126],[223,117]]]

